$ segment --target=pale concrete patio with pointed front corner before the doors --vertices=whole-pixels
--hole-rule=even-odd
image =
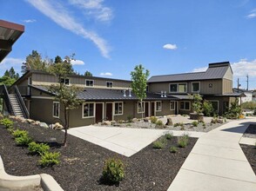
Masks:
[[[139,150],[157,140],[159,136],[168,132],[170,131],[165,129],[107,128],[98,126],[84,126],[68,130],[70,135],[128,157],[136,154]],[[205,133],[191,131],[172,131],[172,133],[176,136],[184,133],[193,137],[205,135]]]

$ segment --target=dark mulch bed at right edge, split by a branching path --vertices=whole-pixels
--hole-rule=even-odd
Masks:
[[[246,129],[245,134],[256,135],[256,124],[249,125],[249,127]],[[245,144],[240,144],[240,147],[244,151],[244,154],[246,155],[246,158],[251,164],[254,174],[256,175],[256,147],[253,145],[245,145]]]

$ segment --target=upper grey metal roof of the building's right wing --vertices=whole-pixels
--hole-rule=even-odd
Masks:
[[[193,72],[177,75],[152,76],[148,82],[182,82],[209,79],[221,79],[225,76],[226,70],[230,67],[229,62],[209,63],[205,72]]]

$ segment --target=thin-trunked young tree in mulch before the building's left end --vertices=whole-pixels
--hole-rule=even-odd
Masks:
[[[66,59],[63,63],[55,63],[50,67],[51,74],[57,76],[58,84],[51,85],[49,91],[55,95],[55,99],[60,102],[64,110],[64,147],[67,145],[67,129],[69,128],[70,111],[77,109],[80,104],[80,100],[77,99],[77,92],[79,88],[76,86],[67,86],[62,82],[63,78],[71,75],[73,72],[71,66],[71,59]]]

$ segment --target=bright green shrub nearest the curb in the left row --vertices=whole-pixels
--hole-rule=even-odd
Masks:
[[[58,164],[59,161],[59,152],[44,152],[43,155],[41,155],[41,160],[39,160],[39,164],[42,167],[52,167],[55,164]]]

